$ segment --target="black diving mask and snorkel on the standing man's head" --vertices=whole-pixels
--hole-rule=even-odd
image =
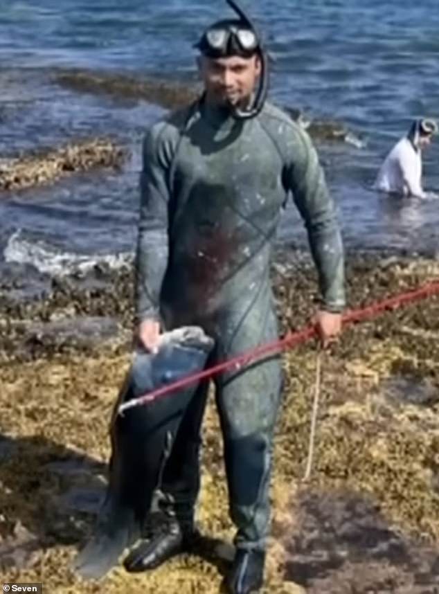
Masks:
[[[210,26],[201,36],[195,47],[202,54],[212,57],[227,57],[237,52],[238,55],[251,57],[258,54],[261,62],[258,89],[247,108],[231,106],[231,113],[237,120],[248,120],[256,117],[267,99],[269,87],[268,55],[262,46],[262,37],[253,21],[238,6],[235,0],[226,0],[229,6],[238,15],[237,21],[218,21]]]

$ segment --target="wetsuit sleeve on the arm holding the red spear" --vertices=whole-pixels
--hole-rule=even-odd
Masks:
[[[285,190],[291,191],[307,229],[319,275],[322,308],[341,312],[345,306],[343,244],[337,212],[310,137],[301,129],[292,131],[287,143]]]

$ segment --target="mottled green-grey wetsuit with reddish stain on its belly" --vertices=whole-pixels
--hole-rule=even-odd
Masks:
[[[203,102],[150,129],[143,146],[136,260],[139,321],[196,324],[213,336],[213,363],[277,336],[269,256],[292,192],[319,272],[323,309],[344,305],[343,249],[334,204],[309,137],[266,104],[239,121]],[[280,361],[216,382],[231,517],[242,548],[264,548],[271,449],[280,402]],[[192,521],[199,489],[201,386],[186,411],[162,489]],[[219,446],[220,447],[220,446]]]

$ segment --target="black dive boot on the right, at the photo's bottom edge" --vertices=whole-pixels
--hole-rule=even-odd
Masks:
[[[235,559],[224,585],[227,594],[253,594],[259,592],[264,582],[265,551],[236,551]]]

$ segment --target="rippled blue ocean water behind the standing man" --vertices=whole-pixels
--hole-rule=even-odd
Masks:
[[[318,145],[348,250],[437,253],[439,199],[389,199],[370,185],[413,118],[439,117],[438,1],[242,5],[251,8],[274,58],[271,98],[341,121],[364,143]],[[107,134],[132,152],[121,172],[1,194],[0,260],[48,269],[55,258],[58,270],[132,253],[141,138],[164,111],[66,90],[53,73],[73,67],[195,81],[192,44],[207,24],[227,15],[223,0],[0,0],[0,159]],[[439,192],[439,139],[425,154],[424,180]],[[294,208],[279,237],[305,244]]]

